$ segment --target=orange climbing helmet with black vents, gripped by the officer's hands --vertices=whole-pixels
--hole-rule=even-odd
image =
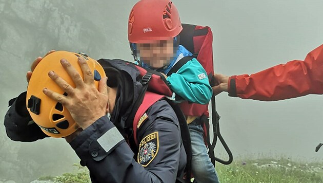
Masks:
[[[27,109],[33,121],[48,136],[65,137],[75,132],[78,128],[69,111],[62,104],[52,100],[43,93],[43,88],[46,87],[58,94],[67,95],[63,89],[49,78],[48,72],[51,70],[72,87],[75,87],[73,80],[59,61],[63,58],[68,60],[83,78],[82,69],[77,62],[78,57],[83,57],[87,61],[94,76],[95,86],[98,88],[98,81],[101,77],[106,76],[105,71],[98,62],[89,58],[84,53],[68,51],[55,51],[50,53],[39,62],[30,78],[26,98]]]

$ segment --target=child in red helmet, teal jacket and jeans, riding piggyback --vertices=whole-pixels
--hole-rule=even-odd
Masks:
[[[128,40],[135,62],[165,76],[181,58],[192,56],[179,45],[181,27],[178,11],[169,0],[141,0],[129,15]],[[203,66],[193,58],[166,77],[171,89],[181,98],[207,104],[212,88]],[[192,172],[196,182],[218,182],[203,139],[199,116],[187,116],[192,141]]]

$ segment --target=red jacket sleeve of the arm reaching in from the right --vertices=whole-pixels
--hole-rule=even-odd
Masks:
[[[252,75],[231,76],[229,96],[275,101],[323,94],[323,45],[307,54],[304,61],[293,60]]]

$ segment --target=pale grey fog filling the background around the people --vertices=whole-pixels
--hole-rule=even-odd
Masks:
[[[26,72],[51,49],[85,52],[93,59],[132,61],[127,21],[136,1],[0,0],[0,122],[8,100],[26,90]],[[214,68],[252,74],[306,54],[323,44],[321,0],[174,0],[182,23],[213,30]],[[299,83],[301,84],[301,83]],[[235,158],[290,157],[322,161],[323,97],[276,102],[216,97],[220,130]],[[64,139],[11,141],[0,125],[0,180],[28,182],[72,171],[79,159]],[[226,158],[223,149],[216,154]]]

